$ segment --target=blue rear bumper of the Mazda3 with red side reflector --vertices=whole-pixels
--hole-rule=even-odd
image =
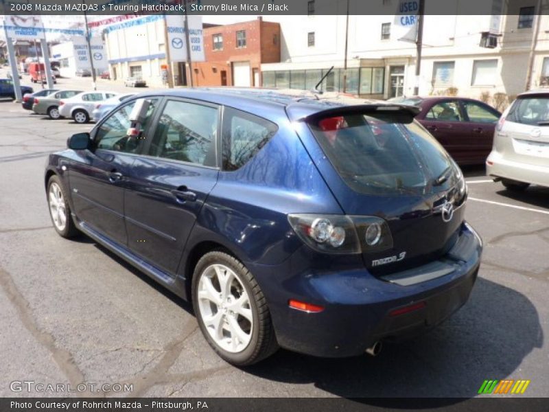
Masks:
[[[393,273],[392,281],[373,277],[364,268],[284,275],[299,266],[296,262],[286,262],[285,267],[250,265],[250,270],[257,273],[282,347],[314,356],[343,357],[364,354],[379,340],[414,336],[447,319],[467,301],[481,253],[482,241],[464,224],[447,255],[401,273],[404,277]],[[433,264],[447,270],[433,274]],[[395,283],[395,279],[411,278],[415,280],[406,286]],[[289,308],[288,299],[324,310],[301,312]],[[420,302],[422,307],[417,310],[391,314]]]

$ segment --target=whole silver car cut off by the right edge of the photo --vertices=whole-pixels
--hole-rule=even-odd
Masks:
[[[509,190],[549,186],[549,91],[528,91],[504,111],[486,170]]]

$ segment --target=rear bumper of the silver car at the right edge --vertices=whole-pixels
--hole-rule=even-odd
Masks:
[[[530,165],[511,161],[505,159],[500,152],[492,151],[490,153],[486,163],[486,172],[489,176],[549,186],[549,165]]]

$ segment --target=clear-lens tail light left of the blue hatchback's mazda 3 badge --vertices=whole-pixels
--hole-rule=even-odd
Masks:
[[[375,216],[289,214],[288,221],[305,244],[323,253],[371,253],[393,247],[387,222]]]

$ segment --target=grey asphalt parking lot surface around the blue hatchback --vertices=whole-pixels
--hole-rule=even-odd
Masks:
[[[375,358],[280,350],[239,369],[210,349],[185,301],[89,238],[54,231],[47,153],[93,125],[10,101],[0,125],[0,396],[65,396],[10,389],[32,380],[133,385],[88,396],[471,398],[484,380],[505,378],[530,380],[522,396],[549,396],[549,188],[511,194],[484,168],[465,169],[466,218],[484,256],[469,302],[436,330]]]

